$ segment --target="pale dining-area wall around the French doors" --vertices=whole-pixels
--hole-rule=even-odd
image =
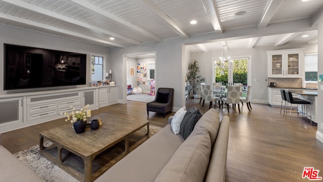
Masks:
[[[267,104],[267,54],[266,51],[303,48],[304,53],[317,52],[317,44],[293,43],[280,47],[274,45],[254,47],[253,49],[230,49],[225,51],[225,56],[230,57],[252,57],[251,84],[252,102]],[[223,56],[223,51],[192,52],[191,60],[196,59],[201,66],[201,75],[206,78],[206,84],[212,84],[213,70],[212,59]],[[259,80],[259,81],[254,81]]]

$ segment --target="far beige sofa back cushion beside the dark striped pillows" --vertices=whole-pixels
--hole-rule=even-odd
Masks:
[[[202,127],[208,130],[210,134],[211,144],[217,138],[218,130],[220,127],[220,115],[219,111],[216,109],[209,109],[203,116],[197,121],[195,127]]]

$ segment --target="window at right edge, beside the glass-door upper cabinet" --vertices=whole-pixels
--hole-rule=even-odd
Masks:
[[[317,81],[317,53],[305,54],[305,81]]]

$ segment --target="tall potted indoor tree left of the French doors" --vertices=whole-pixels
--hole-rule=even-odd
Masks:
[[[187,76],[187,81],[189,82],[190,85],[192,85],[194,99],[197,98],[197,94],[196,94],[196,91],[198,89],[197,85],[205,81],[205,78],[202,77],[199,74],[199,72],[200,72],[200,66],[198,65],[198,62],[196,60],[191,61],[188,64],[188,72],[186,76]]]

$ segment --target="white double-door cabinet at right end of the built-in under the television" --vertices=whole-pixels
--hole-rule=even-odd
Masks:
[[[118,103],[118,87],[100,88],[99,93],[99,107],[109,106]]]

